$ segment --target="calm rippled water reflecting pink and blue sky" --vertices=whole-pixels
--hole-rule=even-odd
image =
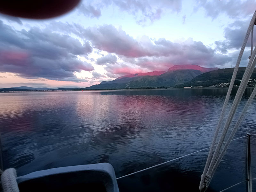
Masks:
[[[116,177],[147,168],[209,147],[226,92],[164,89],[0,93],[4,166],[15,167],[18,175],[24,175],[60,166],[108,162],[115,168]],[[251,92],[251,88],[246,89],[238,114]],[[253,100],[235,137],[256,133],[252,132],[256,131],[255,108]],[[252,136],[253,178],[255,138]],[[220,191],[244,180],[245,148],[246,138],[232,141],[208,191]],[[198,191],[207,155],[208,151],[203,151],[119,179],[120,192]],[[229,191],[245,191],[245,184]]]

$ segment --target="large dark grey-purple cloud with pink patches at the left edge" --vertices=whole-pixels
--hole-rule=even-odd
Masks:
[[[73,73],[92,71],[91,64],[77,58],[92,52],[89,42],[33,27],[15,30],[0,21],[0,71],[22,77],[47,78],[62,81],[84,81]]]

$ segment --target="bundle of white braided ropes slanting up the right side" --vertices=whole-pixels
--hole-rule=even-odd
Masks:
[[[220,126],[223,123],[224,114],[225,114],[226,109],[227,109],[228,100],[229,100],[229,97],[230,97],[230,94],[231,94],[231,91],[232,91],[232,88],[233,88],[233,85],[234,85],[234,82],[235,82],[235,79],[236,79],[236,74],[237,74],[237,71],[238,71],[238,68],[239,68],[239,64],[241,62],[241,59],[242,59],[242,56],[243,56],[243,53],[244,53],[244,49],[245,49],[246,43],[248,41],[248,38],[250,36],[250,33],[253,31],[253,25],[254,25],[255,19],[256,19],[256,12],[254,12],[254,14],[252,16],[252,20],[251,20],[251,22],[249,24],[249,27],[247,29],[247,32],[246,32],[246,35],[245,35],[245,38],[244,38],[244,42],[242,44],[240,53],[238,55],[238,59],[236,61],[236,66],[234,68],[234,72],[233,72],[231,82],[230,82],[230,85],[229,85],[229,88],[228,88],[227,96],[226,96],[225,102],[223,104],[223,108],[222,108],[222,111],[221,111],[221,114],[220,114],[220,119],[219,119],[219,122],[217,124],[216,131],[215,131],[215,134],[214,134],[214,137],[213,137],[213,140],[212,140],[212,145],[211,145],[211,148],[210,148],[210,151],[209,151],[209,155],[207,157],[207,161],[206,161],[206,164],[205,164],[205,167],[204,167],[204,171],[203,171],[203,174],[201,176],[201,181],[200,181],[200,185],[199,185],[200,191],[205,191],[207,189],[207,187],[209,186],[209,183],[212,180],[212,176],[214,175],[214,172],[216,171],[216,169],[217,169],[225,151],[228,148],[228,145],[229,145],[230,141],[232,140],[234,134],[236,133],[236,130],[238,129],[238,127],[239,127],[239,125],[240,125],[248,107],[250,106],[250,104],[252,102],[252,99],[254,98],[254,96],[256,94],[256,87],[255,87],[251,96],[250,96],[250,98],[249,98],[249,100],[247,101],[246,105],[244,106],[244,109],[243,109],[241,115],[239,116],[239,118],[238,118],[238,120],[235,124],[235,127],[233,128],[233,130],[232,130],[232,132],[231,132],[231,134],[230,134],[230,136],[227,140],[226,145],[221,150],[221,147],[222,147],[222,145],[224,143],[224,140],[226,138],[228,129],[230,127],[230,124],[231,124],[231,122],[233,120],[233,117],[236,113],[236,109],[237,109],[237,107],[238,107],[238,105],[241,101],[244,90],[245,90],[245,88],[248,84],[248,81],[249,81],[249,79],[252,75],[252,72],[255,68],[255,65],[256,65],[256,60],[254,59],[255,55],[256,55],[256,48],[253,51],[252,51],[252,48],[251,48],[250,60],[249,60],[248,65],[247,65],[247,67],[244,71],[244,76],[243,76],[243,78],[241,80],[241,83],[240,83],[240,86],[237,90],[237,93],[236,93],[235,99],[233,101],[233,104],[231,106],[231,109],[229,111],[226,123],[225,123],[224,128],[221,132],[218,144],[215,148],[215,143],[216,143],[217,137],[218,137],[219,132],[220,132]],[[252,32],[252,38],[253,38],[253,32]]]

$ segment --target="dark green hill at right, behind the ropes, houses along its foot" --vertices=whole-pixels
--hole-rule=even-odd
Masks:
[[[225,68],[225,69],[218,69],[210,72],[203,73],[201,75],[196,76],[190,82],[176,85],[175,87],[187,87],[187,86],[211,86],[214,84],[220,83],[229,83],[232,75],[233,75],[234,68]],[[245,71],[245,67],[240,67],[238,69],[236,75],[236,82],[235,84],[239,84],[238,80],[243,78]],[[256,78],[256,69],[254,69],[251,78]]]

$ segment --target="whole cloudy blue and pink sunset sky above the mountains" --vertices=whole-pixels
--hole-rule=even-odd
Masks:
[[[173,65],[234,67],[255,8],[254,0],[84,0],[47,20],[0,14],[0,88],[83,88]]]

